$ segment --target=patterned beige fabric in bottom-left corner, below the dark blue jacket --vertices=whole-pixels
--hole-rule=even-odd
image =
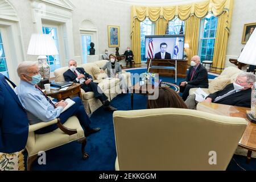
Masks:
[[[22,151],[13,154],[0,153],[0,171],[25,171]]]

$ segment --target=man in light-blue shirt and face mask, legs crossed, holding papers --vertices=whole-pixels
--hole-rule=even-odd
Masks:
[[[100,131],[98,127],[90,127],[90,118],[85,113],[84,105],[82,105],[81,98],[79,97],[73,98],[72,100],[75,101],[75,104],[61,113],[64,107],[67,106],[67,102],[63,100],[60,102],[51,101],[36,85],[41,81],[41,75],[39,74],[38,65],[34,62],[24,61],[20,63],[17,73],[20,77],[20,84],[16,86],[14,92],[18,95],[22,106],[27,112],[30,125],[39,122],[49,122],[56,118],[60,118],[60,122],[63,124],[69,117],[76,115],[85,131],[85,136]],[[49,133],[57,128],[57,124],[50,125],[36,130],[35,133]]]

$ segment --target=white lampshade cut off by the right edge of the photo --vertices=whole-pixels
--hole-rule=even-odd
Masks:
[[[253,31],[250,39],[247,41],[245,48],[238,57],[240,63],[256,65],[256,31]]]

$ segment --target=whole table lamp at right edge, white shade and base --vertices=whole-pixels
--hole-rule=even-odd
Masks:
[[[240,63],[256,65],[256,31],[253,31],[250,39],[247,41],[241,55],[238,57],[238,61]],[[256,122],[256,92],[255,92],[255,83],[251,88],[251,113],[247,114],[247,118],[250,119],[251,122]]]

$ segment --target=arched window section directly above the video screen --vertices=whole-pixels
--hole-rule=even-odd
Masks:
[[[185,22],[180,20],[178,17],[169,21],[168,26],[169,35],[185,34]]]

